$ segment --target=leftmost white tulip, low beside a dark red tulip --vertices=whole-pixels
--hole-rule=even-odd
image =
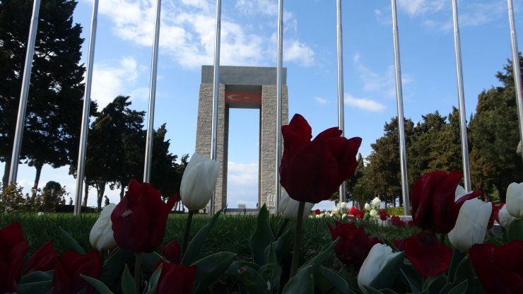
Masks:
[[[93,248],[98,251],[112,249],[116,246],[116,241],[112,235],[112,221],[111,213],[112,210],[116,207],[116,204],[112,203],[102,209],[98,220],[96,220],[95,225],[90,230],[89,242]]]

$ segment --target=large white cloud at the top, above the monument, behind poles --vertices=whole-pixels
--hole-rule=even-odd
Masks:
[[[277,13],[274,1],[239,1],[240,11],[272,16]],[[100,4],[99,13],[114,23],[112,31],[122,40],[152,47],[155,23],[155,1],[112,0]],[[212,64],[216,4],[206,0],[179,0],[163,5],[160,26],[160,54],[168,54],[186,68]],[[295,28],[292,13],[284,13],[286,29]],[[264,23],[264,25],[266,25]],[[269,24],[271,27],[276,26]],[[252,27],[228,16],[221,23],[221,64],[260,66],[272,64],[276,41],[273,35],[251,33]],[[314,62],[314,51],[298,40],[284,42],[284,59],[302,66]]]

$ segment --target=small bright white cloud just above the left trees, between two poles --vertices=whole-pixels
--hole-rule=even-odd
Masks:
[[[100,108],[112,102],[117,95],[130,95],[124,93],[124,89],[132,86],[139,76],[140,66],[136,59],[123,57],[119,66],[107,66],[95,64],[93,69],[93,84],[91,86],[91,98],[98,102]]]

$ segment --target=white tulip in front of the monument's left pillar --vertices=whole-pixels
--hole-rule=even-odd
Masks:
[[[185,167],[180,185],[180,197],[189,211],[203,209],[213,196],[220,172],[220,163],[194,153]]]

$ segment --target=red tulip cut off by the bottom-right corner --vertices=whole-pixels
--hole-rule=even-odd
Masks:
[[[476,244],[469,255],[486,293],[521,293],[523,289],[523,241],[513,240],[497,247]]]

